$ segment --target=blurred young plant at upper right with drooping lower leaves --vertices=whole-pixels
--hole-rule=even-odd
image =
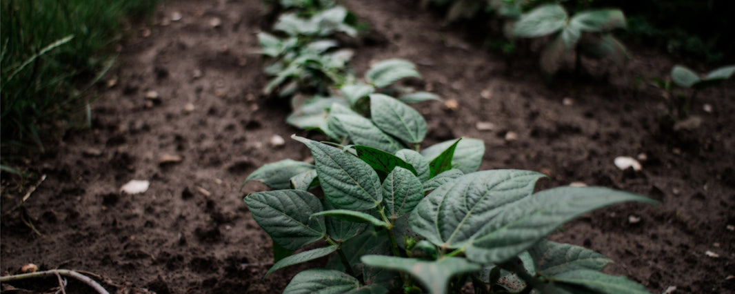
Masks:
[[[542,37],[559,33],[541,54],[541,68],[551,76],[562,66],[564,56],[576,52],[576,71],[581,57],[608,58],[623,66],[628,52],[612,36],[613,29],[625,29],[625,16],[617,9],[587,10],[571,18],[559,4],[545,4],[520,16],[514,24],[515,37]]]

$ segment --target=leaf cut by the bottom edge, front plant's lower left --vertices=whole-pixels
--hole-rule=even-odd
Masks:
[[[354,277],[337,270],[320,268],[304,270],[291,279],[284,294],[312,294],[312,293],[353,293],[359,289],[360,282]]]

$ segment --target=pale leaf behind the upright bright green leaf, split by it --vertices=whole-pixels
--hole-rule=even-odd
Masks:
[[[448,140],[435,144],[421,151],[421,155],[433,160],[451,146],[456,140]],[[480,169],[482,157],[485,154],[485,143],[479,139],[462,138],[454,150],[452,168],[458,168],[462,173],[472,173]]]

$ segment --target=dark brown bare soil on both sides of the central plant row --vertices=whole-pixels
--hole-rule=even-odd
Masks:
[[[653,293],[671,286],[673,293],[733,293],[734,83],[698,94],[698,129],[666,131],[657,120],[661,90],[636,82],[667,76],[675,60],[657,52],[632,46],[625,71],[584,60],[579,79],[567,68],[547,85],[534,57],[539,43],[528,42],[531,52],[507,62],[484,49],[477,32],[447,26],[415,1],[345,5],[371,28],[365,40],[348,44],[357,73],[378,60],[412,60],[424,79],[406,84],[458,102],[454,110],[417,105],[429,121],[424,147],[476,137],[487,148],[481,169],[541,171],[549,178],[539,188],[584,182],[654,198],[659,206],[584,215],[551,239],[605,254],[616,262],[610,273]],[[173,12],[182,19],[170,21]],[[255,33],[269,26],[260,0],[168,1],[153,21],[132,25],[134,36],[106,77],[116,84],[97,89],[92,129],[29,159],[47,178],[22,207],[25,191],[3,173],[3,275],[35,263],[94,273],[118,293],[276,293],[309,268],[262,279],[271,243],[243,197],[266,187],[248,182],[240,190],[261,165],[309,157],[293,140],[270,146],[273,135],[314,135],[284,122],[287,102],[260,94],[266,77]],[[151,90],[159,98],[146,99]],[[478,130],[480,121],[495,127]],[[182,161],[160,164],[165,154]],[[641,171],[613,164],[639,154],[646,157]],[[149,189],[121,193],[132,179],[150,181]]]

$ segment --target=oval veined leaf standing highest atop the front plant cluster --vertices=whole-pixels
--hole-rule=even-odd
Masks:
[[[405,103],[383,94],[370,94],[370,119],[383,132],[406,143],[421,143],[426,137],[423,116]]]

